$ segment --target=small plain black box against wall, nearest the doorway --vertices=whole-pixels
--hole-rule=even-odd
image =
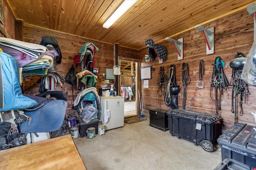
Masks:
[[[160,129],[162,131],[168,131],[168,115],[166,113],[168,110],[166,109],[150,109],[149,110],[149,125]]]

